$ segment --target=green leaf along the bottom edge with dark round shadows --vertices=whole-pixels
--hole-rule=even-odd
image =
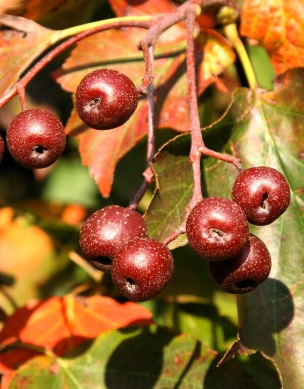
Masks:
[[[276,389],[277,377],[255,358],[231,360],[188,335],[157,326],[108,331],[65,358],[39,356],[13,375],[10,389]],[[259,382],[257,372],[264,378]]]

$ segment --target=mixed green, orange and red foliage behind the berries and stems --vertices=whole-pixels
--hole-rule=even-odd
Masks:
[[[180,3],[3,2],[0,98],[44,51],[91,23],[148,20]],[[137,44],[146,29],[94,33],[48,63],[27,87],[31,107],[49,109],[64,122],[62,157],[29,171],[5,151],[0,166],[1,389],[301,386],[304,7],[300,0],[240,3],[249,65],[236,36],[217,21],[218,5],[203,8],[197,18],[199,114],[210,149],[240,158],[244,168],[271,166],[288,179],[287,212],[269,226],[250,227],[271,253],[270,278],[248,295],[227,295],[212,284],[206,261],[181,234],[169,243],[175,266],[170,284],[157,298],[136,304],[82,258],[78,239],[85,218],[109,204],[127,206],[141,185],[148,132],[146,96],[115,130],[87,128],[75,111],[75,90],[88,72],[110,67],[136,86],[145,74]],[[246,78],[251,66],[258,88]],[[160,35],[154,73],[155,182],[137,208],[149,237],[163,241],[181,225],[194,189],[182,22]],[[3,138],[19,104],[12,99],[1,108]],[[201,169],[204,197],[231,198],[234,165],[204,156]]]

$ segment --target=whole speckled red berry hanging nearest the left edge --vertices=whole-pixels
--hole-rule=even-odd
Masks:
[[[62,154],[65,143],[60,120],[40,108],[20,112],[7,131],[7,145],[12,157],[28,169],[52,165]]]

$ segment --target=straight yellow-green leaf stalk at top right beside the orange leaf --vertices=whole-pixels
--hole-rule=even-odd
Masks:
[[[234,49],[236,50],[236,52],[240,58],[244,72],[245,72],[246,77],[247,77],[249,87],[251,89],[257,89],[258,85],[256,82],[255,74],[254,74],[250,59],[248,57],[248,54],[246,52],[246,49],[245,49],[243,42],[239,36],[236,23],[226,24],[223,27],[223,30],[224,30],[224,33],[226,35],[227,40],[232,44],[232,46],[234,47]]]

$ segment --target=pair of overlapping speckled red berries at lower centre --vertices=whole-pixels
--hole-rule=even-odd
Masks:
[[[91,215],[80,231],[80,247],[97,269],[130,300],[159,294],[173,273],[173,258],[163,243],[147,238],[144,218],[130,208],[107,206]]]

